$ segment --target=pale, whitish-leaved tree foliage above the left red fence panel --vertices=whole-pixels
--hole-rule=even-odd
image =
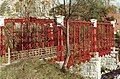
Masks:
[[[45,0],[5,0],[0,6],[0,14],[9,18],[31,17],[46,18],[52,6]],[[26,13],[27,12],[27,13]]]

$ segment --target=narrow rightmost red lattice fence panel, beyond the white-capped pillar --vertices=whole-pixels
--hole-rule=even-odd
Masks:
[[[114,47],[114,28],[110,23],[98,23],[97,26],[97,51],[100,56],[109,54]]]

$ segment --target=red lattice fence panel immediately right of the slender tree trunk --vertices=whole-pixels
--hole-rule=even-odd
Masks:
[[[71,56],[68,67],[75,62],[89,61],[93,52],[93,24],[91,22],[70,21]]]

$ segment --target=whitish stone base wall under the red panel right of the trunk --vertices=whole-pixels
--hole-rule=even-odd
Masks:
[[[81,64],[80,74],[85,79],[101,79],[101,57],[95,52],[95,56],[89,62]]]

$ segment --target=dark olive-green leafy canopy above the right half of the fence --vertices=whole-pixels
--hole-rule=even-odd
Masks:
[[[66,10],[64,9],[64,6]],[[57,5],[50,10],[50,15],[68,15],[68,4]],[[94,18],[104,21],[108,13],[116,12],[115,6],[105,6],[101,0],[76,0],[72,3],[70,18],[89,21]]]

